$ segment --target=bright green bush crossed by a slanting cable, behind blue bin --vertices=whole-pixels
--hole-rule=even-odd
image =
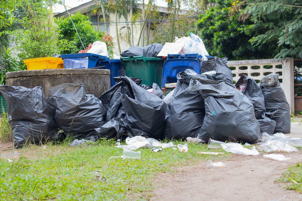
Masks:
[[[95,30],[92,22],[89,21],[88,16],[77,12],[75,15],[72,15],[71,18],[85,47],[88,46],[89,43],[93,43],[97,40],[101,41],[102,37],[104,36],[104,32]],[[82,43],[76,34],[70,18],[57,18],[55,22],[62,31],[60,39],[71,41],[73,44],[73,48],[65,51],[64,53],[78,53],[81,49],[83,49]]]

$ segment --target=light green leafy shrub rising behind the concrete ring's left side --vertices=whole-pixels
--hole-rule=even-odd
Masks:
[[[21,60],[61,54],[70,47],[67,40],[59,40],[60,30],[50,24],[47,5],[33,2],[21,5],[26,16],[20,21],[22,29],[16,30],[15,43]]]

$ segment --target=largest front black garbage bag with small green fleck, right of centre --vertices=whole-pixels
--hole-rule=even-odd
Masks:
[[[203,79],[192,78],[190,91],[199,91],[204,98],[206,114],[199,132],[202,142],[210,138],[222,142],[257,141],[260,128],[252,102],[233,85],[209,85]]]

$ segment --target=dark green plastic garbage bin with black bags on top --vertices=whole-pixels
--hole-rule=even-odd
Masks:
[[[162,86],[163,59],[156,57],[133,56],[121,57],[125,65],[126,75],[142,79],[141,84],[152,85],[153,82]]]

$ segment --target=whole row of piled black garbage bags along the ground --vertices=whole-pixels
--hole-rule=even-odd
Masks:
[[[262,132],[290,132],[290,107],[278,74],[260,85],[242,75],[233,85],[226,58],[200,62],[202,73],[179,72],[167,96],[156,83],[140,85],[140,78],[127,76],[114,78],[117,84],[98,98],[86,94],[83,84],[57,85],[47,100],[41,87],[0,85],[14,146],[66,136],[257,142]]]

